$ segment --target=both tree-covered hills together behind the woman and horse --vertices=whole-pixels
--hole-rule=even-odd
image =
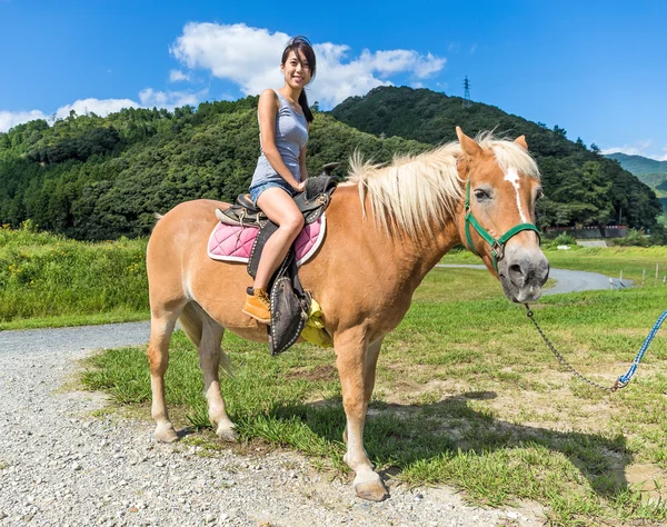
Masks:
[[[123,109],[106,118],[71,112],[0,133],[0,223],[31,219],[77,239],[113,239],[150,232],[155,212],[196,198],[232,200],[247,190],[259,155],[257,98],[203,102],[198,108]],[[608,225],[659,235],[661,207],[653,190],[595,146],[569,141],[495,107],[429,90],[378,88],[349,98],[330,113],[316,111],[308,170],[346,161],[359,149],[378,162],[495,129],[525,135],[544,175],[545,226]],[[341,169],[341,173],[345,170]]]

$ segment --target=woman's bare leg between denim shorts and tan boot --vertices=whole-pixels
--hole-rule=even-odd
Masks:
[[[278,226],[278,230],[263,247],[255,276],[255,289],[266,289],[271,276],[303,228],[303,215],[291,196],[278,187],[265,190],[257,199],[257,206]]]

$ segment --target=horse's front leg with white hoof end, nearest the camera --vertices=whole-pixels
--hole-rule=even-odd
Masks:
[[[364,448],[366,410],[372,392],[372,382],[368,384],[367,372],[372,369],[375,374],[379,344],[369,347],[365,332],[360,328],[348,330],[335,338],[336,366],[340,376],[342,406],[347,418],[347,453],[344,460],[355,471],[354,486],[357,495],[372,501],[381,501],[389,496],[380,476],[372,469]],[[368,359],[369,348],[375,351],[375,359]]]

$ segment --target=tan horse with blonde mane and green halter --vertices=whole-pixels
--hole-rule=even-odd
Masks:
[[[401,321],[426,274],[462,243],[499,278],[511,301],[537,300],[548,277],[534,225],[540,175],[524,136],[510,141],[485,132],[471,139],[459,127],[456,131],[458,141],[396,157],[388,166],[352,157],[349,178],[326,211],[325,242],[299,270],[334,339],[347,419],[344,460],[355,471],[352,485],[364,499],[388,497],[364,448],[382,338]],[[223,332],[267,341],[266,326],[241,312],[251,286],[246,266],[206,256],[216,208],[226,207],[207,199],[182,202],[158,220],[148,243],[147,354],[158,441],[178,438],[165,400],[177,320],[199,349],[209,418],[227,441],[235,441],[237,434],[220,395],[219,369],[229,366],[221,350]]]

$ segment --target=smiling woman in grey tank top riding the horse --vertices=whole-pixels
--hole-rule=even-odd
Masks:
[[[259,96],[261,156],[250,185],[252,202],[278,226],[265,245],[252,295],[246,297],[243,306],[246,315],[263,324],[271,319],[269,280],[303,227],[303,216],[292,198],[303,190],[308,177],[306,141],[312,112],[305,88],[315,78],[316,63],[307,38],[295,37],[287,43],[280,71],[285,86]]]

